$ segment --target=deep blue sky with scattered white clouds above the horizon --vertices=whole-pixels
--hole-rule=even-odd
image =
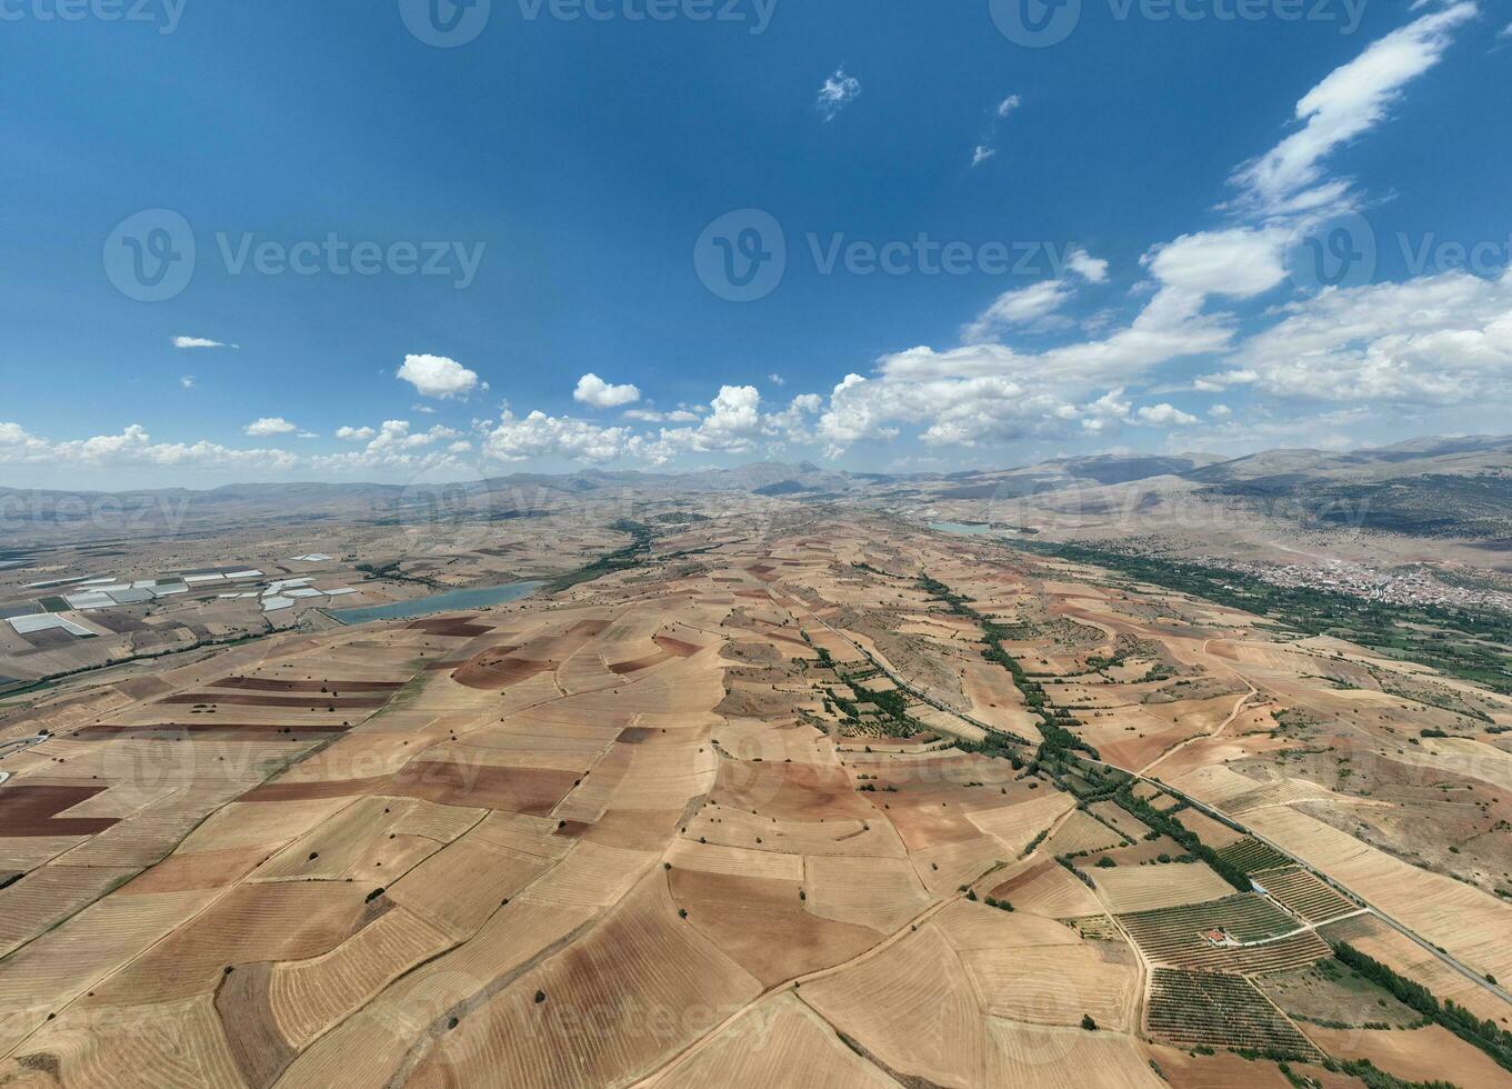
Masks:
[[[1019,2],[0,0],[0,484],[1507,430],[1507,11]]]

